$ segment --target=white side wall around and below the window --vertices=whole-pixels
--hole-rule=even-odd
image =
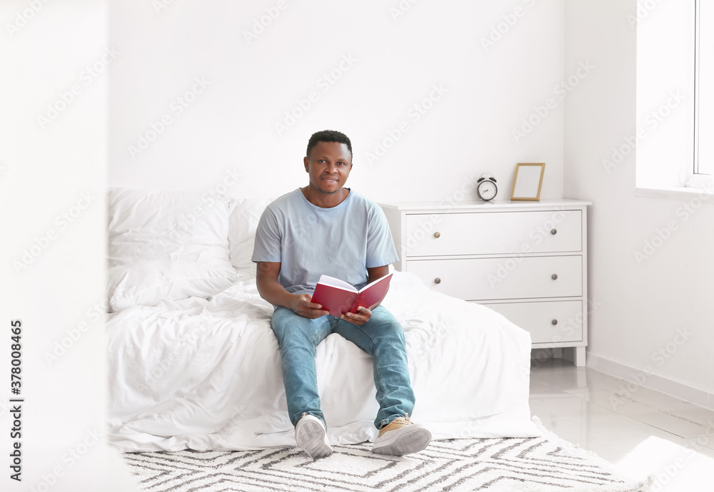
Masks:
[[[582,60],[596,67],[565,105],[565,196],[594,204],[588,364],[698,404],[709,397],[714,408],[714,205],[635,197],[634,153],[615,168],[603,165],[642,124],[636,32],[628,23],[636,5],[568,0],[565,13],[565,70]],[[651,136],[638,152],[663,138]]]

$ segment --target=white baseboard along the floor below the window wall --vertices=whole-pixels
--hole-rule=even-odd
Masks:
[[[620,362],[615,362],[605,357],[600,357],[588,352],[587,367],[596,371],[610,374],[625,381],[631,381],[645,388],[660,391],[660,393],[674,396],[675,398],[689,401],[705,409],[714,410],[714,393],[698,389],[680,381],[673,381],[658,374],[647,373],[637,367],[630,367]]]

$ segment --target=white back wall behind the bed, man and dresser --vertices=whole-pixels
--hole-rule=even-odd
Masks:
[[[563,0],[166,3],[156,11],[147,1],[110,1],[110,44],[120,54],[111,67],[109,185],[211,190],[230,184],[232,171],[241,180],[228,193],[284,193],[307,182],[311,133],[333,128],[353,141],[348,185],[375,200],[459,198],[485,172],[510,197],[519,162],[545,162],[541,197],[562,196]],[[397,15],[400,5],[411,7]],[[248,43],[261,18],[269,25]],[[485,47],[489,36],[496,41]],[[333,71],[331,84],[324,74]],[[197,77],[210,85],[178,114],[176,98]],[[296,101],[311,93],[301,114]],[[413,106],[430,95],[438,100],[418,115]],[[539,122],[534,107],[549,100]],[[276,130],[293,110],[299,118]],[[161,130],[164,116],[171,124]],[[531,117],[538,124],[516,141],[512,130]],[[381,154],[390,132],[396,143]],[[131,155],[141,135],[156,138]]]

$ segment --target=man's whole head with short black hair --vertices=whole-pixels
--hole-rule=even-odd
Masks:
[[[352,143],[347,135],[318,131],[310,137],[307,154],[303,162],[310,175],[308,193],[314,198],[341,191],[352,169]]]

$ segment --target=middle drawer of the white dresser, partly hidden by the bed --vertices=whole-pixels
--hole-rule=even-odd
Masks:
[[[467,301],[583,295],[580,255],[408,260],[406,271]]]

